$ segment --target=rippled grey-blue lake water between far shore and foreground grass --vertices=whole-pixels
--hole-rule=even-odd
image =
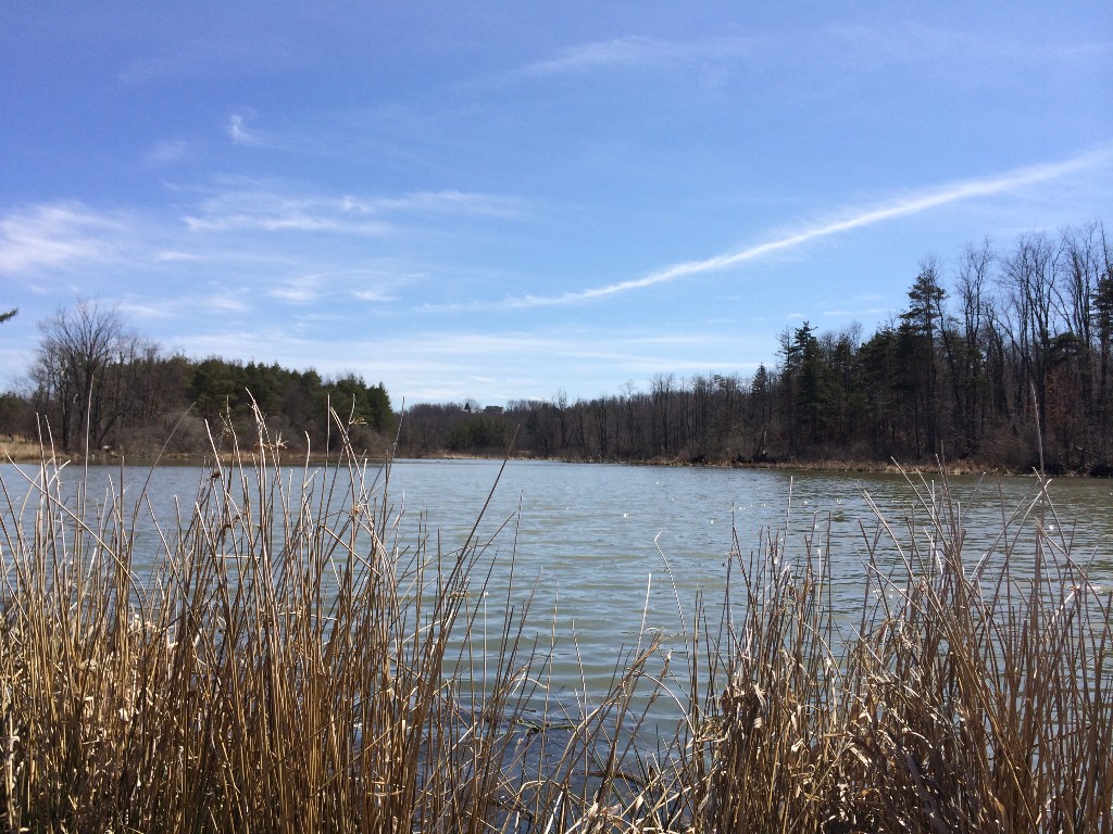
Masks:
[[[424,526],[439,532],[444,552],[460,548],[500,466],[396,461],[386,499],[403,540],[415,538]],[[33,476],[36,469],[22,471]],[[144,553],[154,558],[160,546],[149,516],[173,528],[176,497],[188,515],[207,471],[127,468],[125,496],[138,496],[148,475],[149,509],[141,516],[136,547],[139,569]],[[319,494],[324,474],[311,475]],[[71,492],[82,476],[79,467],[65,469],[63,489]],[[295,485],[304,476],[302,469],[289,473]],[[13,500],[27,495],[17,467],[0,466],[0,478]],[[119,492],[120,479],[119,467],[91,468],[88,495],[104,500],[107,490]],[[966,529],[967,564],[987,552],[991,562],[999,558],[1002,532],[1011,540],[1020,529],[1014,517],[1041,510],[1034,505],[1038,485],[1032,477],[956,477],[949,484]],[[867,496],[907,549],[912,536],[927,544],[924,503],[940,489],[938,483],[919,479],[914,486],[881,475],[511,461],[479,527],[480,539],[490,542],[480,573],[492,560],[493,568],[486,597],[476,592],[473,602],[494,634],[508,598],[519,607],[531,598],[529,629],[545,641],[556,635],[561,651],[554,674],[565,676],[570,689],[584,684],[595,689],[605,686],[620,651],[643,635],[661,633],[666,645],[682,649],[697,590],[707,592],[709,609],[721,602],[736,536],[743,557],[760,552],[764,535],[779,534],[789,557],[810,549],[816,558],[828,559],[837,604],[853,610],[861,602],[865,542],[878,532]],[[1113,586],[1113,481],[1053,480],[1050,495],[1055,514],[1045,515],[1045,525],[1051,535],[1070,545],[1075,560],[1090,565],[1094,584]],[[11,513],[2,510],[6,524]],[[14,513],[20,515],[18,505]],[[883,559],[896,558],[892,540],[884,535],[880,540]],[[1031,553],[1031,547],[1022,552]],[[514,583],[509,587],[512,563]]]

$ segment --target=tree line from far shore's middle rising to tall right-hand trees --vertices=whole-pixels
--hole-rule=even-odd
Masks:
[[[502,408],[415,405],[400,453],[762,463],[927,461],[1109,474],[1113,465],[1113,258],[1101,222],[1034,232],[1007,251],[926,258],[907,306],[779,335],[749,377],[656,377],[611,396]]]

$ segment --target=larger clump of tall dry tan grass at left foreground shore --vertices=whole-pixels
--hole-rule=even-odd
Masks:
[[[601,703],[551,699],[539,651],[552,642],[519,649],[528,598],[515,610],[511,584],[499,632],[477,626],[491,546],[479,520],[451,552],[424,529],[403,542],[388,469],[368,475],[345,443],[335,466],[292,470],[262,423],[260,436],[263,451],[206,471],[169,524],[145,519],[157,554],[136,550],[150,508],[122,484],[71,496],[70,470],[43,456],[26,496],[4,485],[0,824],[486,832],[607,818],[654,645],[618,666]]]

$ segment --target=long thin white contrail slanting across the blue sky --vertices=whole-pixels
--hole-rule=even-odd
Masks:
[[[594,287],[575,292],[565,292],[560,296],[524,296],[522,298],[508,299],[506,306],[546,307],[571,304],[573,301],[584,301],[592,298],[601,298],[603,296],[613,296],[631,289],[652,287],[654,284],[666,284],[686,276],[713,272],[718,269],[732,267],[736,264],[756,260],[757,258],[769,255],[770,252],[792,249],[801,244],[816,240],[817,238],[838,235],[839,232],[859,229],[864,226],[873,226],[874,224],[881,222],[883,220],[892,220],[897,217],[916,215],[920,211],[927,211],[928,209],[933,209],[938,206],[946,206],[951,202],[968,200],[974,197],[986,197],[989,195],[1001,193],[1002,191],[1007,191],[1022,186],[1046,182],[1047,180],[1056,179],[1063,175],[1071,173],[1072,171],[1107,162],[1111,157],[1113,157],[1113,149],[1103,148],[1063,162],[1037,165],[1009,171],[998,177],[992,177],[988,179],[972,179],[939,188],[933,188],[913,193],[887,205],[858,211],[857,214],[850,215],[841,220],[827,222],[823,226],[806,229],[805,231],[800,231],[795,235],[778,238],[777,240],[758,244],[757,246],[751,246],[737,252],[717,255],[713,258],[707,258],[705,260],[690,260],[681,264],[673,264],[672,266],[650,272],[641,278],[633,278],[628,281],[620,281],[619,284],[610,284],[605,287]]]

